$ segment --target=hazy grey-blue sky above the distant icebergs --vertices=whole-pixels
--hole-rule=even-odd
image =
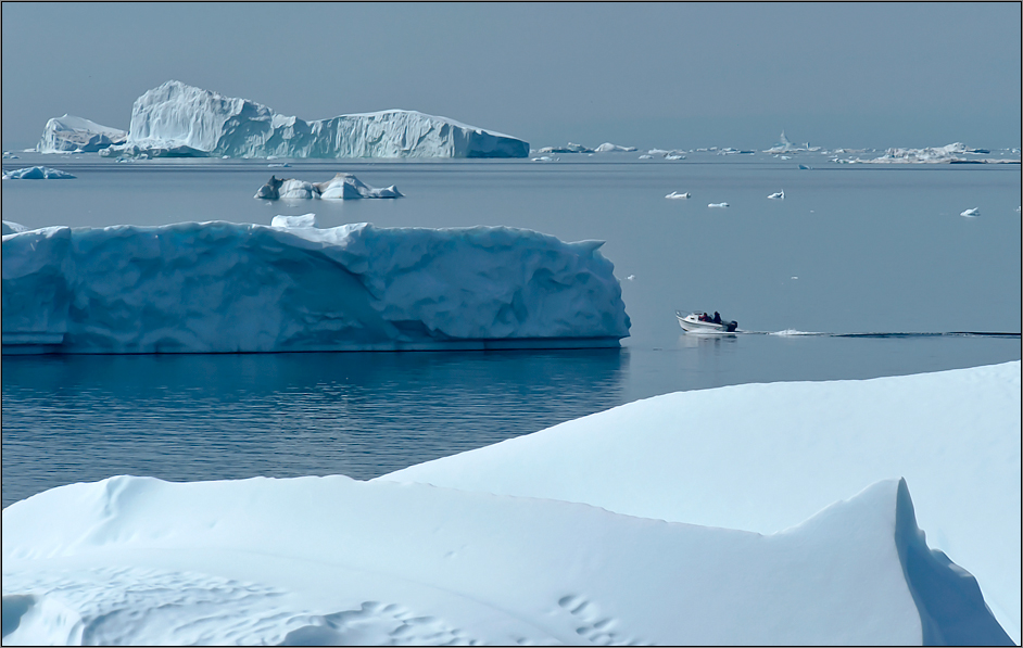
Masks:
[[[3,2],[3,148],[127,129],[178,79],[305,119],[392,107],[534,148],[1020,144],[1021,4]]]

